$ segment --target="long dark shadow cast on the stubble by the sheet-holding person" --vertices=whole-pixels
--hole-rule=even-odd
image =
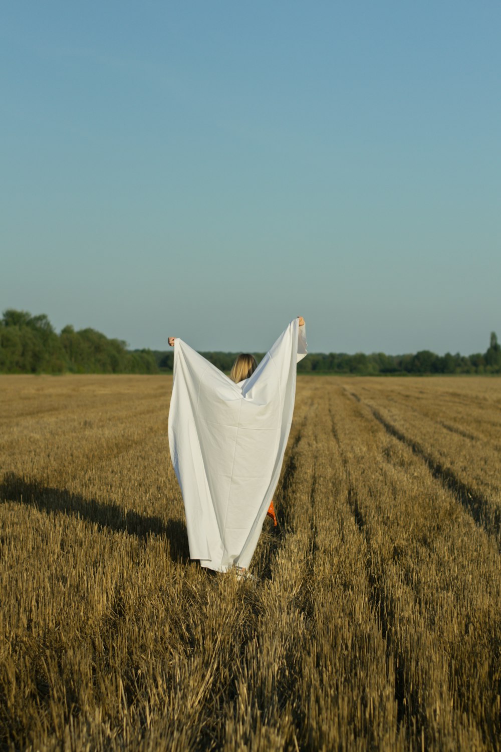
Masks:
[[[146,540],[148,535],[165,535],[170,543],[171,559],[175,562],[189,559],[186,525],[181,520],[146,517],[134,511],[125,512],[116,504],[85,499],[79,493],[61,488],[42,486],[36,481],[26,481],[9,473],[0,484],[0,502],[12,501],[32,505],[39,510],[62,512],[68,517],[97,523],[116,532],[127,532]]]

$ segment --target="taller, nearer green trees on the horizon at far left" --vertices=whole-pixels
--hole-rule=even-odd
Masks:
[[[0,372],[20,373],[158,373],[150,350],[126,349],[95,329],[65,326],[58,335],[45,314],[4,311],[0,321]]]

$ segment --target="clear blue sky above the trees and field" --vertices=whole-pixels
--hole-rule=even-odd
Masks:
[[[501,5],[12,2],[0,305],[130,347],[484,352]]]

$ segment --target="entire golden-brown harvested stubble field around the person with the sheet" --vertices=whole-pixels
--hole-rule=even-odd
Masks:
[[[501,750],[501,379],[299,377],[256,583],[171,384],[0,377],[0,749]]]

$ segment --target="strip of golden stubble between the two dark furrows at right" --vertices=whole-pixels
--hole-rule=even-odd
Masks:
[[[421,730],[427,748],[442,749],[454,735],[455,748],[496,748],[499,553],[422,458],[388,435],[360,400],[345,392],[335,407],[373,599],[394,660],[399,717]],[[489,698],[487,719],[479,697]],[[464,714],[481,722],[465,726]]]

